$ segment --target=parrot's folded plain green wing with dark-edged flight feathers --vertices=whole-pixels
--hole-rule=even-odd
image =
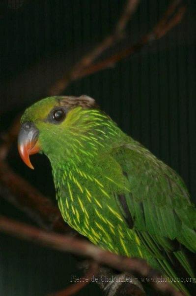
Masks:
[[[131,185],[124,196],[126,207],[115,194],[125,221],[132,220],[133,229],[167,276],[177,277],[173,269],[177,259],[194,277],[182,246],[196,252],[196,208],[182,179],[137,142],[114,149],[113,156]],[[183,284],[177,285],[188,293]]]

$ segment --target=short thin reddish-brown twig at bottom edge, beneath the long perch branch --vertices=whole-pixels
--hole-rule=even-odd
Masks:
[[[86,281],[81,281],[81,282],[77,282],[73,285],[70,285],[69,287],[67,287],[65,290],[57,292],[55,294],[50,294],[48,296],[71,296],[76,294],[77,292],[79,292],[80,290],[82,290],[87,284],[90,283],[90,279],[93,276],[96,276],[96,274],[98,273],[99,270],[99,264],[97,262],[91,262],[90,266],[88,268],[88,271],[86,272],[86,274],[84,275],[84,279],[86,279]]]

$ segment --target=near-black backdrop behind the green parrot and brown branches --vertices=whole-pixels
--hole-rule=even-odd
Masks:
[[[128,40],[147,33],[168,0],[142,0],[127,27]],[[0,2],[0,130],[47,95],[55,78],[111,33],[124,0],[8,0]],[[87,94],[119,126],[185,180],[196,201],[196,2],[167,36],[115,67],[73,82],[64,94]],[[9,163],[55,202],[50,164],[32,156],[35,170]],[[32,223],[0,198],[0,214]],[[79,275],[75,259],[0,233],[0,296],[44,296]],[[90,284],[80,295],[101,295]]]

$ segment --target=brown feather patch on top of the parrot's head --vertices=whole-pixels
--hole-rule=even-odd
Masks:
[[[75,108],[78,106],[81,106],[84,109],[99,108],[93,98],[85,96],[85,95],[80,96],[80,97],[59,96],[59,97],[56,97],[56,100],[58,101],[60,106],[64,106],[67,109],[72,109],[72,108]]]

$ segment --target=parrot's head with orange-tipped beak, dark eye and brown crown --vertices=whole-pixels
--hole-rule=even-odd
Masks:
[[[82,149],[81,135],[111,120],[88,96],[48,97],[29,107],[22,116],[18,149],[23,161],[33,169],[29,155],[43,152],[50,160]],[[102,132],[103,133],[103,132]]]

